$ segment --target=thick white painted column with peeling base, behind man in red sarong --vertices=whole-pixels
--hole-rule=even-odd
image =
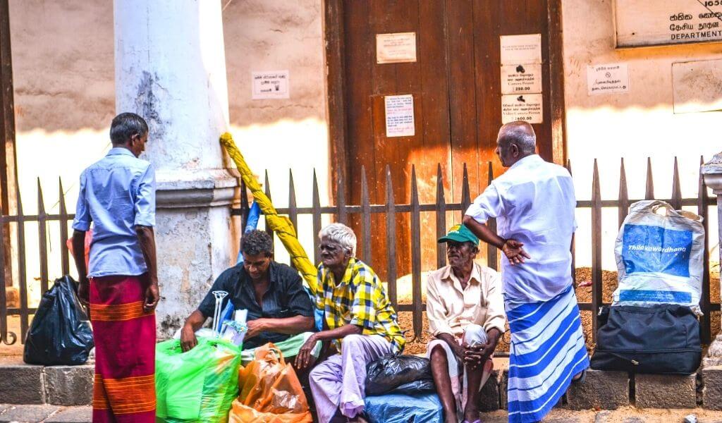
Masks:
[[[115,0],[116,112],[150,126],[142,158],[155,165],[156,240],[168,337],[230,264],[230,202],[219,136],[228,126],[221,2]]]

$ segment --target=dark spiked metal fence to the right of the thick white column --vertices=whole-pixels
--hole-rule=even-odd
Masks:
[[[703,164],[703,158],[700,157],[700,165]],[[572,172],[570,162],[567,162],[567,170]],[[618,210],[618,226],[622,226],[627,213],[629,212],[630,204],[635,201],[641,201],[643,199],[630,199],[627,191],[627,177],[625,172],[625,163],[622,159],[619,167],[619,191],[616,200],[602,200],[601,189],[600,189],[600,177],[599,167],[597,161],[594,160],[592,170],[592,190],[590,200],[577,201],[577,209],[588,209],[591,212],[591,245],[585,246],[591,250],[591,302],[580,302],[579,308],[583,311],[591,312],[595,315],[592,318],[592,336],[593,341],[596,341],[596,329],[599,326],[598,320],[596,319],[596,312],[603,305],[609,305],[609,302],[603,301],[603,282],[602,282],[602,245],[601,245],[601,215],[603,209],[616,208]],[[422,313],[424,312],[426,305],[422,302],[421,292],[421,277],[422,277],[422,263],[421,263],[421,227],[420,214],[422,212],[435,212],[436,214],[436,237],[442,237],[446,233],[446,212],[459,212],[460,219],[463,217],[464,211],[471,204],[471,196],[469,190],[469,175],[464,165],[464,175],[462,178],[462,189],[461,189],[461,201],[458,203],[447,203],[445,201],[445,193],[443,189],[443,174],[441,172],[441,166],[437,167],[436,175],[436,199],[432,204],[419,204],[419,195],[417,190],[417,176],[415,167],[412,167],[411,175],[411,195],[409,203],[397,204],[396,199],[393,195],[393,183],[391,180],[391,170],[386,167],[386,188],[385,188],[385,204],[370,204],[367,178],[365,167],[361,168],[361,195],[359,204],[349,205],[346,193],[344,192],[344,186],[342,183],[337,184],[336,190],[336,206],[321,206],[321,201],[318,195],[318,182],[316,180],[316,173],[313,174],[313,198],[310,207],[298,207],[297,199],[295,196],[295,186],[293,182],[293,175],[290,173],[289,178],[289,199],[288,207],[279,207],[277,211],[279,214],[287,214],[293,224],[297,225],[297,219],[299,215],[311,215],[313,217],[313,234],[317,234],[321,230],[321,216],[324,214],[333,215],[336,222],[348,223],[349,216],[357,215],[360,217],[360,246],[362,253],[360,258],[362,261],[369,263],[375,269],[378,269],[379,263],[373,263],[370,254],[371,245],[371,216],[373,214],[386,214],[386,280],[388,281],[388,296],[397,311],[399,312],[412,312],[413,313],[413,333],[414,339],[420,339],[422,334]],[[494,175],[492,172],[492,164],[488,163],[487,166],[487,180],[490,182]],[[271,189],[269,186],[268,174],[266,173],[265,178],[265,191],[266,195],[271,196]],[[248,214],[250,204],[248,197],[245,195],[245,187],[242,186],[241,190],[241,202],[240,207],[232,209],[232,214],[235,216],[242,217],[242,227],[245,227],[245,217]],[[654,182],[652,173],[652,162],[651,159],[647,160],[647,173],[645,180],[645,200],[654,199]],[[715,199],[710,199],[707,193],[707,187],[705,186],[702,174],[699,175],[697,183],[697,197],[696,198],[682,198],[682,190],[679,181],[679,167],[677,165],[677,158],[674,159],[674,171],[672,180],[671,198],[666,199],[669,204],[674,206],[675,209],[681,209],[682,206],[696,206],[697,214],[700,214],[703,219],[705,227],[705,254],[704,254],[704,273],[703,273],[703,292],[700,300],[700,308],[703,310],[704,315],[700,318],[700,335],[703,343],[708,344],[711,337],[711,320],[710,312],[720,311],[720,304],[710,302],[710,273],[709,273],[709,234],[708,234],[708,207],[716,204]],[[410,226],[410,242],[411,242],[411,275],[412,275],[412,303],[411,304],[399,304],[397,298],[397,287],[396,287],[396,252],[399,248],[399,240],[396,237],[396,216],[398,214],[409,214],[409,226]],[[496,229],[495,219],[491,219],[489,222],[493,229]],[[269,231],[271,232],[271,231]],[[359,234],[357,234],[359,235]],[[573,263],[572,269],[570,269],[573,278],[575,279],[575,249],[578,245],[573,244],[572,256]],[[318,238],[313,237],[313,259],[314,263],[320,261],[319,250],[318,250]],[[491,245],[487,245],[487,266],[492,269],[497,269],[497,249]],[[442,246],[437,245],[436,248],[436,266],[441,267],[446,265],[445,249]],[[575,281],[576,282],[576,281]]]

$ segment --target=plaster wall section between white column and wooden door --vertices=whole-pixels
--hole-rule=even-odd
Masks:
[[[223,12],[231,133],[259,180],[269,172],[274,205],[288,204],[293,171],[297,205],[311,205],[313,170],[321,205],[329,199],[329,137],[322,0],[234,0]],[[290,98],[252,100],[251,72],[290,72]],[[299,238],[313,257],[310,217]],[[276,243],[276,258],[287,254]]]

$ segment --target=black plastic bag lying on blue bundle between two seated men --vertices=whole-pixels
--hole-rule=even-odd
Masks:
[[[385,354],[366,366],[366,394],[416,394],[435,391],[429,359]]]

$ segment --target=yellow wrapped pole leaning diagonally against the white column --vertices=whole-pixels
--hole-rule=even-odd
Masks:
[[[226,132],[221,136],[221,144],[225,147],[226,152],[228,152],[233,162],[235,162],[236,167],[238,167],[238,172],[240,172],[245,186],[253,193],[253,199],[258,203],[261,212],[264,212],[266,225],[277,233],[281,243],[283,243],[283,246],[291,256],[291,262],[296,269],[300,271],[311,292],[316,292],[316,266],[313,266],[303,246],[298,242],[296,230],[291,220],[286,216],[279,216],[276,208],[271,203],[271,199],[269,199],[261,189],[261,184],[258,183],[256,177],[253,176],[251,169],[243,158],[243,154],[240,154],[240,150],[238,150],[235,142],[233,142],[233,136]]]

